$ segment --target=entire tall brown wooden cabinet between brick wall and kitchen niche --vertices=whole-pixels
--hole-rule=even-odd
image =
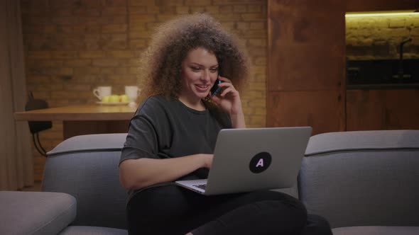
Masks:
[[[268,127],[345,130],[344,1],[268,1]]]

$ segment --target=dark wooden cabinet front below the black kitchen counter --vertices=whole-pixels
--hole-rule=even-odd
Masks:
[[[347,91],[347,130],[419,129],[419,89]]]

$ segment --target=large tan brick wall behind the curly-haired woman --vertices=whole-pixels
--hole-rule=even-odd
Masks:
[[[266,125],[266,1],[21,0],[28,91],[50,107],[94,103],[96,86],[122,93],[137,84],[138,55],[153,28],[184,13],[207,12],[239,35],[251,57],[241,93],[249,127]],[[40,133],[47,151],[62,141],[62,123]],[[34,148],[33,148],[34,149]],[[36,180],[45,159],[36,150]]]

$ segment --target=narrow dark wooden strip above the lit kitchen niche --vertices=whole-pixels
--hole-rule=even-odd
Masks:
[[[347,11],[392,11],[419,8],[418,0],[347,0]]]

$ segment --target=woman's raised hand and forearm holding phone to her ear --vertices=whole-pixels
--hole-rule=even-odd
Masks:
[[[244,114],[241,108],[241,99],[239,91],[234,88],[232,81],[223,76],[219,76],[218,79],[222,81],[218,86],[221,92],[210,98],[214,101],[224,112],[229,113],[232,118],[232,125],[234,128],[244,128]]]

